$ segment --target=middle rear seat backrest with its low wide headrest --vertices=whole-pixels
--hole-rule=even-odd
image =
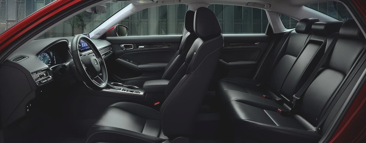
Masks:
[[[324,21],[312,25],[313,33],[288,73],[281,87],[281,95],[292,100],[292,95],[306,82],[324,54],[327,44],[324,41],[333,33],[339,32],[342,24],[342,21]]]

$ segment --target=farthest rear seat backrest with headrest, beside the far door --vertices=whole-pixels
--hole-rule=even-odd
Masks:
[[[301,52],[311,33],[311,25],[315,22],[319,22],[319,19],[302,19],[296,25],[295,31],[290,33],[287,46],[284,46],[285,49],[281,49],[283,52],[279,52],[279,55],[283,56],[280,57],[280,60],[273,69],[268,82],[268,86],[272,88],[272,90],[276,91],[280,89],[287,73],[290,71],[292,64],[294,64],[296,57]]]

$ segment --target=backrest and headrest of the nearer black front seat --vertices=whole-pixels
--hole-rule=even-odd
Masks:
[[[198,38],[187,53],[185,62],[173,76],[178,81],[160,108],[164,135],[190,136],[224,44],[219,21],[208,8],[200,7],[194,16]],[[182,78],[183,77],[183,78]],[[169,82],[169,84],[171,84]]]

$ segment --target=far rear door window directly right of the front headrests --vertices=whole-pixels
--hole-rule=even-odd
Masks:
[[[263,9],[223,4],[211,4],[208,8],[215,13],[223,34],[265,33],[268,27]]]

